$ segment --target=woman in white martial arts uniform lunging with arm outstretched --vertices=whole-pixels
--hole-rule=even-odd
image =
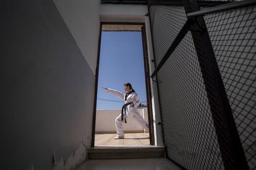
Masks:
[[[140,99],[137,93],[132,89],[130,83],[124,83],[124,90],[126,93],[122,93],[113,89],[108,89],[106,87],[101,87],[105,89],[110,94],[116,95],[124,100],[124,105],[122,107],[122,113],[116,118],[116,133],[117,136],[114,139],[124,139],[124,131],[122,131],[122,123],[126,123],[126,119],[134,118],[137,123],[139,123],[144,129],[148,131],[148,123],[139,113],[138,106],[140,105]]]

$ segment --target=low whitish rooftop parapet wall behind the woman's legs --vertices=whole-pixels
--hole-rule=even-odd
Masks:
[[[116,133],[114,119],[120,115],[121,110],[97,110],[96,111],[96,134]],[[139,108],[139,113],[148,122],[147,108]],[[134,119],[127,119],[124,123],[124,132],[144,132],[144,128],[140,126]]]

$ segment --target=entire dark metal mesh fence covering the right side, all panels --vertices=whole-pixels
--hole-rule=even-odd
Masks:
[[[164,1],[164,6],[159,2],[154,4],[155,2],[148,3],[155,60],[158,65],[187,17],[184,6],[179,6],[180,1],[177,1],[177,6],[170,6],[176,1]],[[231,1],[198,2],[202,4],[202,9]],[[256,168],[255,14],[255,6],[250,6],[204,17],[249,169]],[[157,73],[168,156],[187,169],[224,169],[223,159],[227,169],[237,169],[231,158],[233,151],[228,146],[230,141],[221,135],[221,131],[227,134],[228,130],[220,129],[223,126],[218,127],[218,123],[222,123],[221,115],[216,115],[213,124],[213,113],[205,91],[205,86],[209,87],[209,84],[204,84],[202,71],[211,73],[210,70],[202,70],[206,67],[199,66],[197,54],[203,52],[203,49],[201,51],[197,47],[196,51],[194,42],[197,46],[203,46],[203,42],[196,42],[200,41],[195,36],[200,36],[200,30],[192,31],[197,31],[194,39],[190,32],[187,33]],[[215,95],[214,91],[211,93]],[[218,101],[210,104],[218,110]],[[221,136],[218,141],[216,132]],[[220,139],[224,139],[221,141],[224,148],[222,153],[218,144]]]

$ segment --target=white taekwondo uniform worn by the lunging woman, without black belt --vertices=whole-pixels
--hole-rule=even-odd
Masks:
[[[134,118],[137,121],[137,123],[139,123],[144,129],[148,131],[148,123],[147,121],[145,121],[145,119],[142,118],[137,108],[140,105],[140,99],[135,92],[131,92],[127,96],[127,100],[125,100],[126,94],[122,92],[119,92],[113,89],[106,89],[106,91],[109,92],[110,94],[116,95],[117,97],[120,97],[121,99],[123,99],[125,104],[130,102],[134,103],[134,107],[130,107],[130,105],[126,107],[126,113],[125,113],[126,119]],[[124,120],[122,121],[121,114],[117,116],[117,118],[115,119],[115,123],[116,123],[117,136],[124,138],[124,131],[122,131],[122,123],[124,123]]]

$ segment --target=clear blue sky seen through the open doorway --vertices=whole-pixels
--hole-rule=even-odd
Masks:
[[[132,84],[140,100],[147,100],[142,34],[139,31],[103,31],[101,33],[97,110],[122,107],[124,104],[122,100],[101,89],[101,86],[124,92],[124,82]],[[105,99],[119,102],[108,102]]]

